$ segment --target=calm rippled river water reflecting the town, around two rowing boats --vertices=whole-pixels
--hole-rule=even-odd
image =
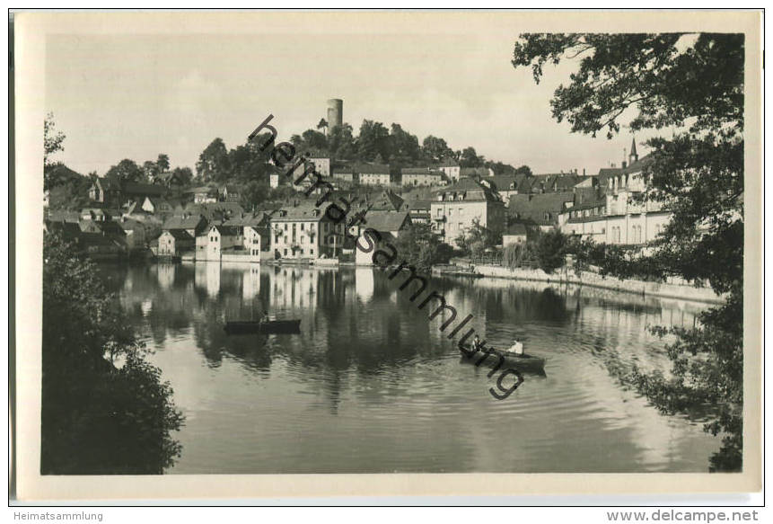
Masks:
[[[658,413],[608,368],[669,369],[646,326],[691,326],[699,304],[432,279],[459,318],[474,315],[465,331],[498,347],[518,337],[548,359],[544,376],[496,400],[496,375],[460,361],[444,315],[428,320],[401,277],[217,263],[101,272],[186,416],[167,473],[705,472],[719,448],[700,420]],[[263,308],[300,318],[301,333],[224,333]]]

